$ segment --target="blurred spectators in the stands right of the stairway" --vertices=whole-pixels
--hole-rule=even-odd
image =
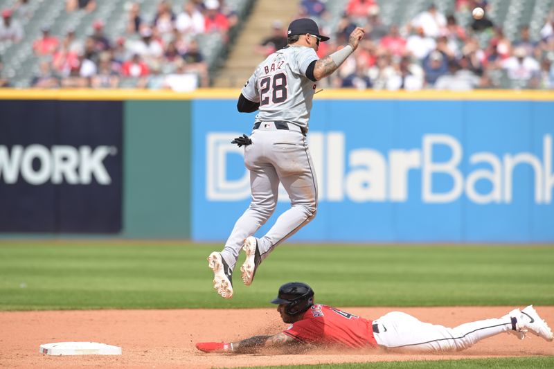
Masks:
[[[431,4],[407,24],[386,24],[375,0],[348,1],[337,28],[324,29],[333,37],[321,44],[326,46],[321,54],[346,44],[355,26],[366,29],[366,38],[355,57],[328,79],[330,87],[554,89],[554,10],[540,38],[533,39],[529,26],[522,26],[516,39],[508,39],[502,25],[486,16],[490,11],[487,1],[452,1],[454,14],[445,15]],[[459,15],[470,14],[476,7],[485,9],[485,17],[472,19],[466,28],[458,24]],[[325,24],[325,2],[301,0],[298,17],[304,16]]]

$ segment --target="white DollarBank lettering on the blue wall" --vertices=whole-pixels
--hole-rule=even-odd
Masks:
[[[206,199],[239,201],[250,197],[244,149],[231,145],[236,132],[206,137]],[[318,177],[320,201],[394,202],[413,199],[420,190],[425,204],[448,204],[462,197],[474,204],[511,204],[515,192],[535,204],[551,204],[554,188],[552,136],[542,136],[542,152],[468,154],[454,136],[424,134],[420,147],[370,147],[347,150],[343,132],[311,132],[310,152]],[[437,154],[442,153],[442,154]],[[530,174],[529,174],[530,173]],[[525,177],[525,178],[524,178]],[[514,188],[517,180],[530,186]],[[527,188],[529,187],[529,188]],[[284,192],[281,189],[281,192]],[[288,201],[279,195],[279,201]]]

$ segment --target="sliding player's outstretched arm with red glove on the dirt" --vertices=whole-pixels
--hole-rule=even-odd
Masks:
[[[279,348],[294,345],[296,343],[298,343],[298,341],[280,332],[273,336],[253,336],[249,339],[243,339],[242,341],[232,343],[199,342],[196,344],[196,348],[204,352],[234,352],[237,354],[247,354],[259,352],[263,348]]]

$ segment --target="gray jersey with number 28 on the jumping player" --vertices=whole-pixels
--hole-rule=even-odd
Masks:
[[[318,59],[313,48],[289,46],[258,65],[242,88],[245,98],[260,102],[256,120],[283,120],[307,132],[316,82],[305,73],[310,63]]]

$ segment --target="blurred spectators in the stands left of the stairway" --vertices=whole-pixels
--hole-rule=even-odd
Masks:
[[[13,8],[2,11],[0,42],[20,42],[24,28],[19,19],[29,1],[19,0]],[[95,0],[68,0],[66,12],[94,12]],[[101,19],[93,22],[93,32],[84,40],[75,30],[66,30],[59,39],[50,27],[33,43],[39,58],[39,72],[33,87],[120,87],[123,78],[136,80],[136,87],[174,90],[208,87],[208,65],[202,55],[197,35],[220,33],[224,42],[229,30],[238,24],[237,15],[224,0],[183,1],[180,12],[172,3],[161,0],[154,19],[145,19],[139,2],[129,2],[125,34],[110,39]],[[0,86],[9,86],[6,79]]]

